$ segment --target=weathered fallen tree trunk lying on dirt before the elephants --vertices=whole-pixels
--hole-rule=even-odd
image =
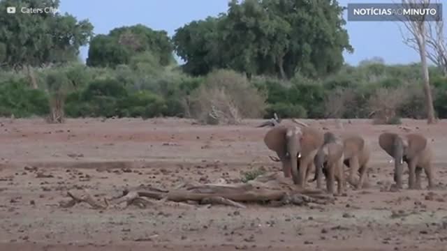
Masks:
[[[151,205],[152,202],[145,199],[157,199],[162,201],[188,202],[198,201],[200,204],[223,204],[244,208],[240,202],[265,202],[281,201],[283,204],[303,205],[307,203],[326,204],[333,200],[331,195],[325,195],[322,190],[298,189],[290,178],[284,178],[279,173],[258,176],[247,183],[235,184],[184,184],[174,190],[159,190],[156,188],[136,188],[126,190],[122,197],[106,200],[106,206],[98,206],[97,201],[92,201],[90,195],[74,198],[73,193],[68,193],[73,200],[65,207],[74,206],[80,202],[87,202],[93,208],[106,208],[110,203],[121,204],[126,201],[126,206],[135,204],[140,208]],[[84,199],[88,198],[88,199]]]

